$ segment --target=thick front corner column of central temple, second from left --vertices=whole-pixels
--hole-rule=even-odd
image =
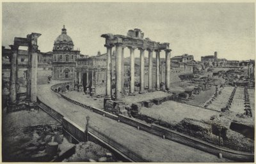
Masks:
[[[116,94],[115,101],[122,101],[122,43],[116,43]]]

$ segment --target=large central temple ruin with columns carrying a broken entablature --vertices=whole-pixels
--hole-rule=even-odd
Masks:
[[[145,93],[144,87],[144,70],[145,70],[145,51],[148,51],[148,90],[160,90],[160,52],[166,52],[166,75],[165,86],[168,90],[170,88],[170,43],[160,43],[152,41],[149,38],[144,38],[144,33],[140,29],[129,30],[127,36],[119,34],[102,34],[102,38],[106,39],[105,47],[107,48],[107,68],[106,68],[106,100],[104,107],[122,103],[122,92],[124,87],[124,48],[130,50],[130,90],[129,94],[134,94],[134,50],[140,50],[140,92]],[[111,95],[111,54],[112,48],[115,47],[115,96]],[[156,52],[156,86],[152,86],[152,55]],[[111,98],[113,100],[111,100]],[[118,106],[119,106],[118,105]]]

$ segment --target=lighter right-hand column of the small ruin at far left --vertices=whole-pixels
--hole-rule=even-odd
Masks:
[[[31,102],[36,102],[37,96],[37,54],[38,45],[32,45],[32,54],[31,54]]]

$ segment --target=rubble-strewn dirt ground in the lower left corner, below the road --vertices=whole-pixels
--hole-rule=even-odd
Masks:
[[[33,112],[21,110],[19,112],[3,114],[2,123],[3,161],[47,162],[52,160],[52,158],[44,156],[45,142],[50,142],[53,136],[55,136],[54,142],[59,142],[59,140],[67,142],[63,138],[61,124],[41,109],[38,111],[34,110]],[[52,127],[59,128],[52,130]],[[57,138],[54,131],[58,131],[58,136],[62,139]],[[95,161],[117,161],[115,156],[108,156],[107,158],[106,153],[111,152],[93,142],[86,144],[81,142],[76,145],[76,153],[68,158],[68,161],[89,161],[89,159]],[[35,158],[35,156],[41,155],[44,157]]]

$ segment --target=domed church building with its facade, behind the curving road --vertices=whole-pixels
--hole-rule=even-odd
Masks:
[[[79,50],[74,50],[72,38],[67,35],[67,29],[63,26],[61,34],[54,41],[52,50],[52,78],[55,80],[75,80],[75,70]]]

